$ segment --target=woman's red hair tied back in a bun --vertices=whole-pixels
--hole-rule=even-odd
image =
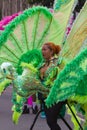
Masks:
[[[50,50],[53,50],[53,55],[59,54],[61,51],[60,45],[55,45],[53,42],[47,42],[44,45],[47,45]]]

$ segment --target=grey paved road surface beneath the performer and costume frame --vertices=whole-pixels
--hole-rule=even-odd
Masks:
[[[0,130],[30,130],[30,126],[33,122],[35,115],[24,114],[21,116],[18,125],[13,124],[11,120],[11,88],[7,89],[2,96],[0,96]],[[73,124],[70,122],[70,117],[66,114],[65,119],[69,122],[71,126]],[[58,124],[61,126],[62,130],[68,130],[64,122],[58,119]],[[46,124],[46,120],[42,119],[40,116],[33,128],[33,130],[50,130]]]

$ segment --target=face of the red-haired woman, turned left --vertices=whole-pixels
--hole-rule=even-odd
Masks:
[[[48,45],[43,45],[42,55],[44,59],[49,60],[53,55],[53,51],[48,47]]]

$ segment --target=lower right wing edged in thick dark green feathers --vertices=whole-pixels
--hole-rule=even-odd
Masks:
[[[46,104],[50,106],[71,99],[72,96],[87,96],[87,49],[60,72],[46,99]]]

